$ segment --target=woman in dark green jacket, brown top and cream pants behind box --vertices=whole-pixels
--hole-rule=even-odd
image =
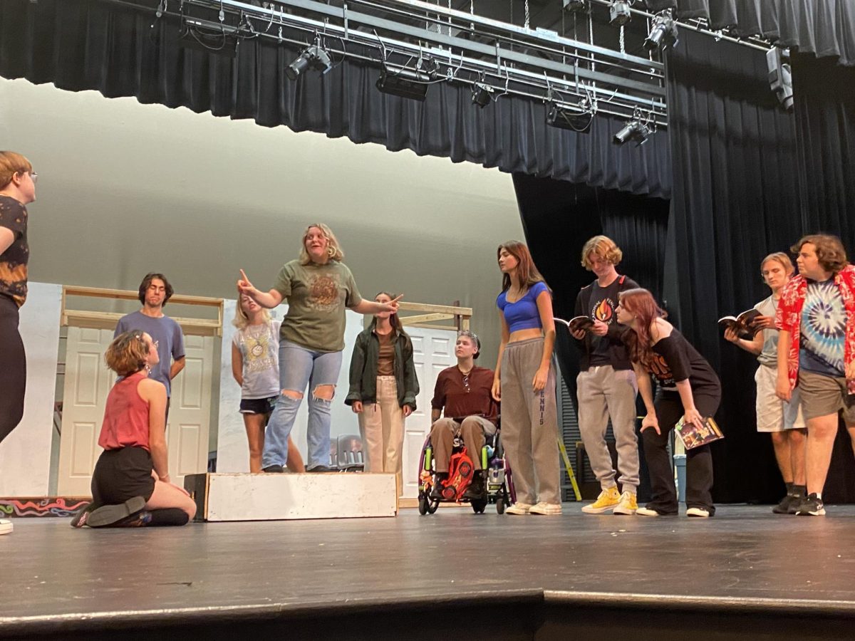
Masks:
[[[391,303],[380,291],[376,303]],[[366,472],[395,474],[398,495],[403,487],[404,419],[416,410],[419,381],[413,342],[397,314],[382,311],[360,332],[351,356],[351,389],[345,397],[359,420]]]

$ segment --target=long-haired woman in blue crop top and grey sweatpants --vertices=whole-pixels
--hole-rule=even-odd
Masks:
[[[496,298],[502,340],[492,397],[504,408],[502,440],[516,485],[516,503],[507,512],[560,515],[551,291],[524,244],[510,240],[496,253],[502,272]]]

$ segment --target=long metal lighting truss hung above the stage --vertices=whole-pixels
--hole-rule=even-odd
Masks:
[[[667,126],[662,62],[425,0],[161,0],[156,12],[151,0],[103,1],[139,5],[155,20],[191,21],[235,47],[248,38],[296,45],[300,53],[286,70],[292,79],[349,59],[377,65],[380,91],[411,99],[423,100],[429,85],[454,82],[469,85],[472,103],[485,109],[505,95],[545,101],[554,89],[569,112],[589,104],[626,119],[638,108]],[[610,0],[580,4],[590,9],[594,2]],[[566,120],[562,113],[556,123]]]

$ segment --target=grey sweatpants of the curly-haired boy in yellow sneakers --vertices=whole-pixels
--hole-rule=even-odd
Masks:
[[[580,372],[576,378],[579,432],[591,469],[602,489],[615,486],[615,470],[605,444],[611,418],[617,446],[617,468],[622,491],[635,493],[639,485],[639,444],[635,436],[635,395],[638,383],[631,369],[600,365]]]

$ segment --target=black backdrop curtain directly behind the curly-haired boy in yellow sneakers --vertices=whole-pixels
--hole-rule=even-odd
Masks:
[[[659,297],[663,282],[669,202],[621,191],[514,174],[526,243],[552,289],[558,318],[574,316],[576,295],[594,279],[581,266],[588,238],[605,234],[623,250],[617,270]],[[567,328],[556,324],[556,355],[575,398],[579,352]]]

